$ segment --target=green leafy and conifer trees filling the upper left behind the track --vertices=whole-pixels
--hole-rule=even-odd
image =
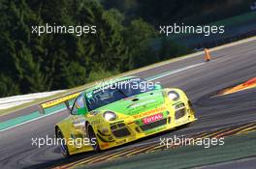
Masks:
[[[96,0],[0,0],[0,97],[71,88],[157,61],[148,50],[154,28],[124,19]],[[46,23],[96,25],[97,34],[31,34]]]

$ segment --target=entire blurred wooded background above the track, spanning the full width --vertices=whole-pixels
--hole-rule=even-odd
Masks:
[[[31,34],[96,25],[97,35]],[[160,25],[224,25],[165,37]],[[0,98],[67,89],[256,35],[255,0],[0,0]]]

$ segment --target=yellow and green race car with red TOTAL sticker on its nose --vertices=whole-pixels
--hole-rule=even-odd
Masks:
[[[65,156],[110,149],[196,120],[181,90],[136,76],[81,92],[70,114],[55,127]]]

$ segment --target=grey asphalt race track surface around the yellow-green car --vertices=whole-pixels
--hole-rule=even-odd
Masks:
[[[198,55],[136,73],[146,78],[170,72],[170,74],[159,76],[154,81],[161,82],[164,87],[184,90],[192,100],[199,120],[190,127],[155,135],[124,147],[157,141],[160,136],[185,135],[256,121],[256,89],[212,98],[218,91],[256,76],[256,41],[219,49],[211,55],[212,60],[208,63],[204,62],[203,55]],[[176,72],[176,70],[180,71]],[[63,111],[0,132],[0,168],[46,168],[94,155],[94,153],[87,153],[65,159],[56,146],[44,146],[40,149],[32,146],[31,138],[46,137],[46,135],[53,137],[54,125],[66,116],[68,112]],[[236,161],[238,162],[250,166],[255,164],[256,158]],[[231,163],[221,163],[218,167],[222,165],[223,168],[224,166],[225,168],[234,167]],[[214,166],[210,167],[214,168]]]

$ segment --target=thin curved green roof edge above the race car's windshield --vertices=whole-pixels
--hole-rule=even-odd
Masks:
[[[107,80],[107,81],[100,81],[100,82],[98,82],[98,84],[96,83],[95,86],[86,89],[83,93],[89,93],[89,92],[92,92],[96,89],[104,87],[106,85],[111,85],[113,83],[123,81],[123,80],[128,80],[128,79],[131,79],[131,78],[140,78],[140,77],[138,77],[138,76],[125,76],[125,77],[114,78],[114,79]]]

